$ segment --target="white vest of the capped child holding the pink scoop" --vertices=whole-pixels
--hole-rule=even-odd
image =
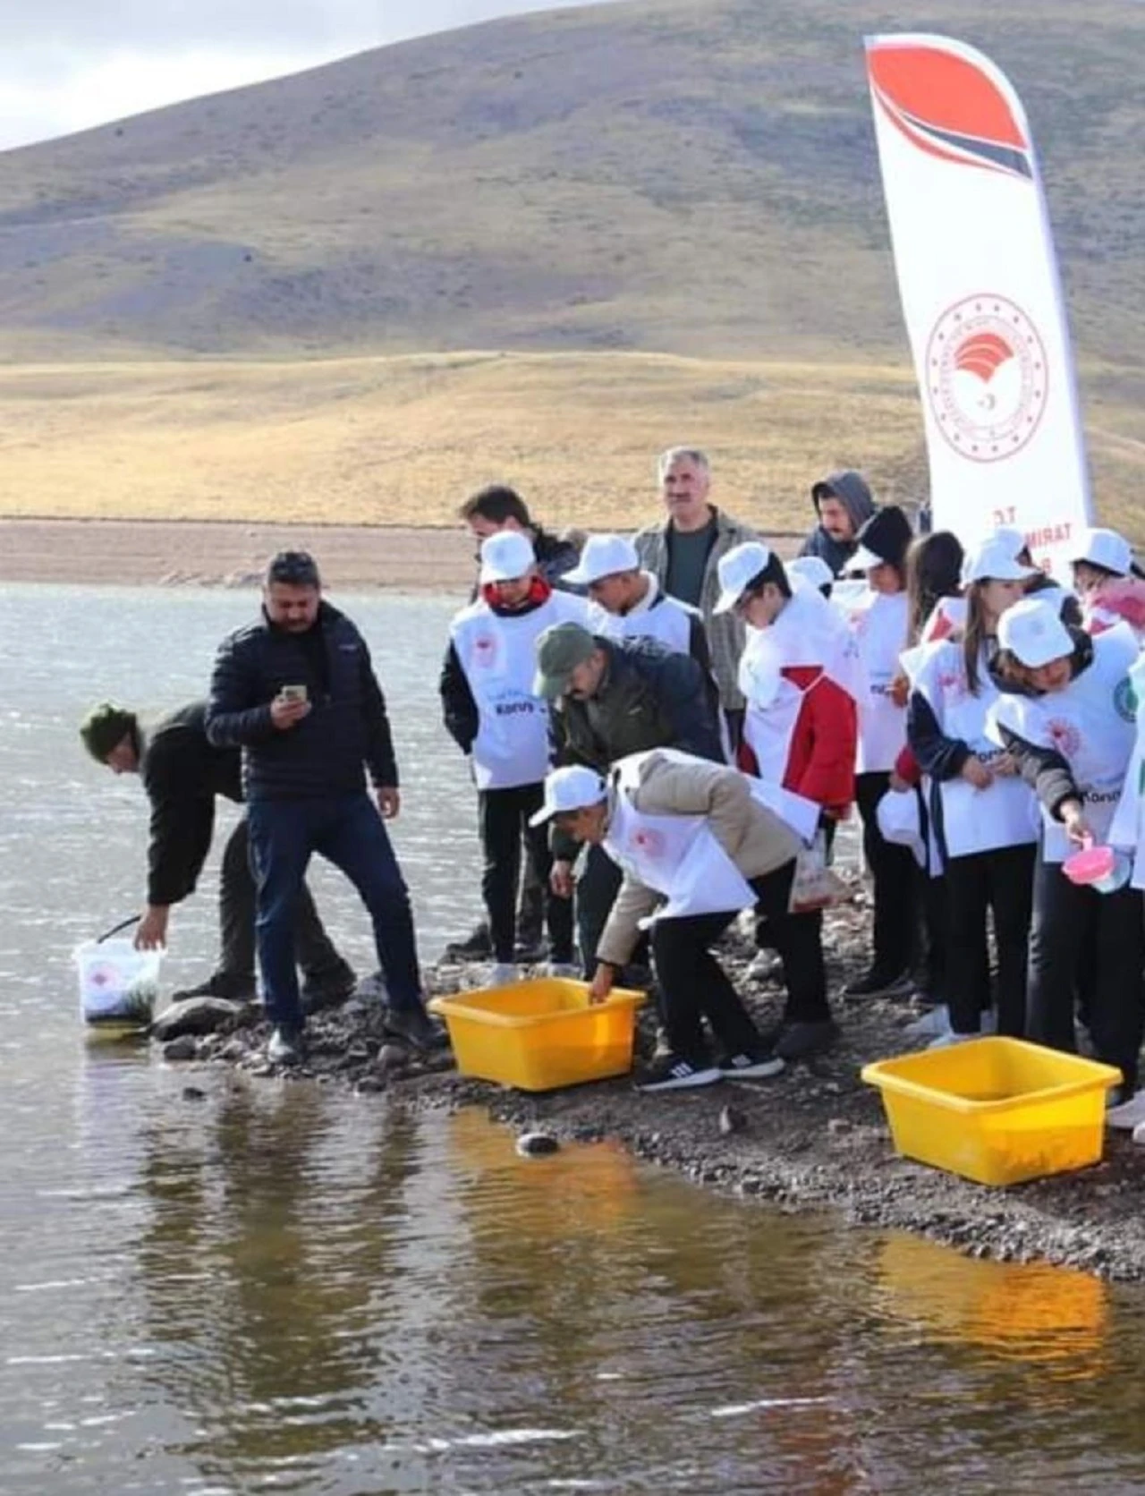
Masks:
[[[1034,744],[1055,748],[1069,763],[1085,802],[1085,820],[1094,841],[1109,835],[1117,802],[1133,752],[1135,700],[1129,679],[1138,642],[1127,625],[1111,628],[1093,642],[1093,664],[1066,687],[1045,696],[1002,693],[991,706],[987,732],[1002,742],[999,727]],[[1066,829],[1042,806],[1043,859],[1064,862],[1076,851]]]

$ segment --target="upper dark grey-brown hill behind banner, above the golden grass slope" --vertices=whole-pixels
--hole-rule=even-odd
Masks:
[[[1145,358],[1145,7],[912,6],[1016,82],[1079,344]],[[0,355],[901,356],[871,0],[519,16],[0,156]],[[901,22],[898,24],[901,28]]]

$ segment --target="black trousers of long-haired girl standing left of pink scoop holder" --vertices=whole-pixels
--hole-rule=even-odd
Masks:
[[[1025,972],[1033,911],[1033,842],[999,847],[946,863],[946,911],[949,920],[946,1005],[955,1034],[976,1034],[990,1008],[990,947],[987,910],[994,911],[994,944],[999,954],[999,1034],[1025,1034]],[[1064,880],[1063,880],[1064,881]]]

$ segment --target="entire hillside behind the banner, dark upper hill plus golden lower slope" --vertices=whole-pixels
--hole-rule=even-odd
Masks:
[[[519,16],[0,156],[0,513],[632,522],[698,441],[770,530],[925,486],[874,0]],[[919,0],[1033,121],[1102,513],[1145,471],[1145,6]],[[477,352],[474,352],[477,350]]]

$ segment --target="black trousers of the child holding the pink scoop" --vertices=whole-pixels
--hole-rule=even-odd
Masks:
[[[1069,881],[1060,863],[1039,856],[1030,928],[1027,1034],[1037,1044],[1073,1050],[1073,998],[1079,953],[1093,941],[1088,1029],[1100,1061],[1118,1065],[1132,1092],[1145,1026],[1145,907],[1138,889],[1097,893]]]

